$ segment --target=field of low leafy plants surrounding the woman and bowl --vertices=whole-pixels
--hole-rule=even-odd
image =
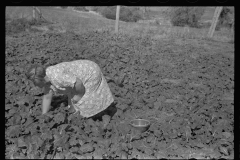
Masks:
[[[234,158],[234,44],[23,32],[6,37],[5,55],[5,158]],[[77,59],[112,79],[115,105],[86,119],[56,95],[42,115],[28,67]],[[134,118],[150,128],[137,132]]]

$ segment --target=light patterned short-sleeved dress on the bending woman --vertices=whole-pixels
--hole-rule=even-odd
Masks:
[[[106,109],[113,101],[112,93],[99,66],[89,60],[63,62],[46,69],[46,76],[52,83],[51,88],[57,92],[64,87],[74,87],[79,78],[85,94],[77,103],[73,104],[76,111],[83,117],[91,117]]]

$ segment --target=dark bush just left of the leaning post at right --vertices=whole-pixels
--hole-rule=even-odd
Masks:
[[[199,27],[199,21],[203,14],[203,7],[175,7],[170,18],[173,26]]]

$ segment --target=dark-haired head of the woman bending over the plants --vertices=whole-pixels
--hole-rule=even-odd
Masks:
[[[39,81],[41,81],[41,79],[44,78],[45,75],[46,68],[40,65],[32,65],[26,73],[27,79],[30,79],[35,84],[39,83]]]

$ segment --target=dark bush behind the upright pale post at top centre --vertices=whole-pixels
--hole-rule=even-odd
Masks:
[[[101,10],[101,14],[108,19],[116,19],[116,6],[105,7]],[[124,7],[120,8],[119,20],[125,22],[137,22],[142,19],[141,11],[138,7]]]

